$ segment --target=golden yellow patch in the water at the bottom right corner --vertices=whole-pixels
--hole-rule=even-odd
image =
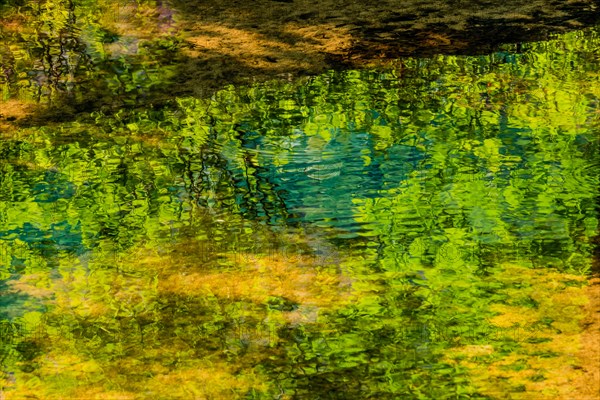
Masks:
[[[494,305],[498,315],[490,322],[507,335],[513,334],[509,336],[517,341],[514,350],[502,355],[500,348],[490,345],[464,346],[448,352],[448,360],[470,370],[472,383],[485,395],[536,400],[598,398],[598,368],[590,364],[598,365],[598,351],[591,346],[598,343],[600,332],[582,333],[580,325],[598,311],[598,302],[590,303],[586,278],[509,265],[498,279],[507,284],[505,291],[512,304]],[[534,306],[522,305],[522,300]],[[589,309],[592,303],[595,311]],[[583,349],[587,351],[582,353]]]

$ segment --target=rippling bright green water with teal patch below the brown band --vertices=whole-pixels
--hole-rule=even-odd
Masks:
[[[13,59],[4,104],[81,104],[77,68],[117,40],[90,29],[55,69]],[[116,110],[0,142],[2,395],[560,396],[556,369],[589,368],[565,346],[598,231],[599,49],[589,28],[160,106],[168,66],[89,72]]]

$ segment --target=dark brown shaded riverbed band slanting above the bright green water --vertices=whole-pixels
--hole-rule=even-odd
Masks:
[[[407,56],[488,54],[501,44],[546,40],[553,34],[593,26],[600,20],[597,3],[158,1],[143,21],[164,32],[155,39],[139,40],[139,47],[145,48],[143,55],[138,52],[101,62],[92,60],[79,36],[80,22],[75,20],[60,32],[60,38],[48,38],[47,48],[38,49],[39,57],[48,57],[43,53],[50,54],[53,47],[63,51],[70,46],[72,54],[80,53],[78,65],[63,65],[62,72],[41,71],[38,75],[46,76],[46,81],[41,83],[40,93],[51,93],[51,103],[33,107],[26,116],[0,112],[5,114],[0,116],[0,123],[39,126],[77,120],[98,110],[112,114],[123,108],[160,109],[168,107],[175,97],[209,97],[231,84],[278,77],[293,80],[332,69],[383,65]],[[3,4],[8,10],[26,3]],[[78,7],[69,4],[71,9]],[[2,28],[0,25],[0,34]],[[106,32],[101,39],[105,46],[124,37]],[[517,45],[516,52],[520,50]],[[8,76],[9,68],[3,68]],[[149,68],[159,71],[158,79],[139,78]],[[171,76],[161,77],[161,69],[171,71]],[[13,70],[12,75],[18,72],[22,71]],[[60,82],[68,74],[74,76],[70,88]],[[115,85],[116,81],[120,83]],[[40,95],[42,103],[45,97]]]

